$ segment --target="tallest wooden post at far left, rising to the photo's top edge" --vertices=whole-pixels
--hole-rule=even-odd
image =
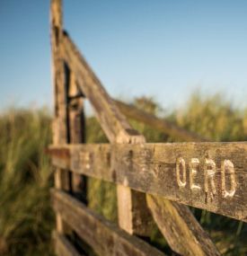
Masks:
[[[54,109],[53,120],[53,144],[67,143],[67,120],[66,120],[66,74],[65,65],[61,59],[61,47],[63,40],[63,19],[61,0],[52,0],[50,5],[50,26],[51,26],[51,48],[52,48],[52,69],[54,84]],[[55,169],[55,187],[60,190],[69,190],[69,172]],[[59,214],[56,215],[57,232],[66,233],[69,228]]]

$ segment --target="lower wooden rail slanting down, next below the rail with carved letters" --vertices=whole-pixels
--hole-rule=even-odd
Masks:
[[[100,255],[164,255],[151,245],[96,215],[65,192],[52,190],[52,199],[54,209]]]

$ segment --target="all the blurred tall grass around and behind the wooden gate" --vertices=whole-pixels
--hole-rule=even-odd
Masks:
[[[132,103],[216,141],[247,140],[247,111],[234,108],[219,95],[203,98],[195,93],[186,108],[169,113],[145,97]],[[53,179],[45,154],[51,141],[50,121],[50,113],[45,109],[10,108],[0,114],[0,255],[53,255],[50,234],[54,215],[49,206]],[[173,141],[152,128],[130,121],[147,141]],[[86,137],[88,143],[107,142],[94,118],[87,119]],[[117,221],[114,185],[90,179],[88,199],[89,207]],[[224,255],[247,254],[246,224],[195,208],[192,211]],[[157,228],[151,243],[168,250]]]

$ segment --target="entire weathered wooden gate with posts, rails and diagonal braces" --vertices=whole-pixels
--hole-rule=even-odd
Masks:
[[[186,205],[246,222],[247,144],[206,142],[113,101],[63,30],[61,0],[51,0],[50,13],[55,117],[49,152],[57,255],[81,255],[76,239],[103,256],[164,255],[140,238],[150,235],[153,222],[173,252],[219,255]],[[85,144],[84,98],[110,144]],[[187,142],[146,143],[124,114]],[[86,207],[86,176],[117,184],[119,226]]]

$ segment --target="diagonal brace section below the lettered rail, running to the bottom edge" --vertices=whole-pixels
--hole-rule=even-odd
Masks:
[[[191,256],[220,255],[188,207],[152,195],[146,197],[155,222],[174,252]]]

